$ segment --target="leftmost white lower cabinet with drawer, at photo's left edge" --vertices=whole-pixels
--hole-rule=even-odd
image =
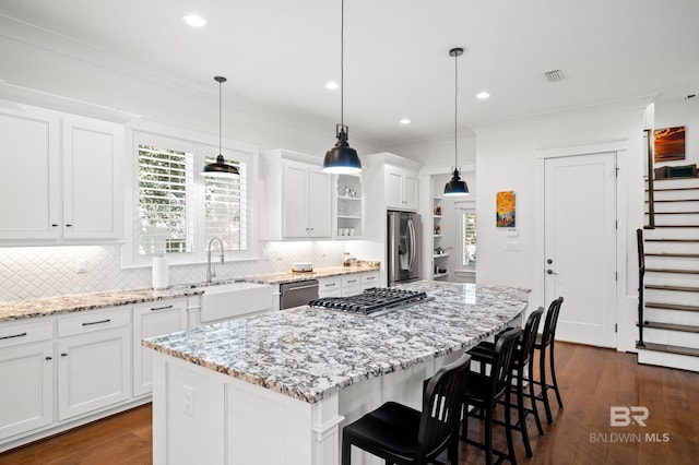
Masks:
[[[0,326],[0,440],[54,421],[54,325]]]

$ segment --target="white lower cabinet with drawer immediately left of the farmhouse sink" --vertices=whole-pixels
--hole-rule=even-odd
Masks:
[[[133,308],[133,395],[151,393],[151,350],[141,339],[187,329],[187,299],[150,302]]]

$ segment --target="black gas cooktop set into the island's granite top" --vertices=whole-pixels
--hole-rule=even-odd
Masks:
[[[310,307],[346,313],[378,317],[400,308],[431,300],[425,293],[395,287],[372,287],[348,297],[325,297],[308,302]]]

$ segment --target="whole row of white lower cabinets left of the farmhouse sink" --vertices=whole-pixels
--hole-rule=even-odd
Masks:
[[[0,452],[147,402],[141,339],[187,329],[187,301],[0,323]]]

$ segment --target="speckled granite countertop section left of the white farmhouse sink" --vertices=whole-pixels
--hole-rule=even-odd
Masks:
[[[52,314],[95,310],[105,307],[153,302],[177,297],[196,296],[202,293],[203,290],[200,288],[186,287],[174,287],[163,290],[141,288],[75,294],[43,299],[12,300],[9,302],[0,302],[0,322],[50,317]]]

